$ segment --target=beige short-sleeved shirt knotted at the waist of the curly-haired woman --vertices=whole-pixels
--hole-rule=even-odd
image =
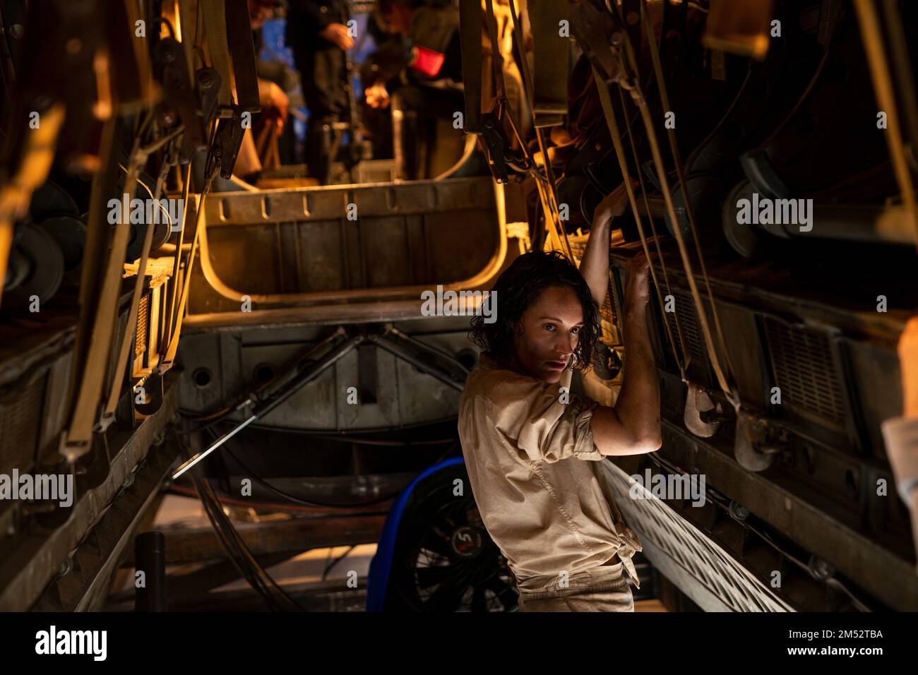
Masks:
[[[638,584],[641,550],[624,523],[593,444],[599,402],[570,393],[568,365],[557,384],[499,366],[481,354],[459,401],[459,437],[488,534],[521,590],[541,590],[619,562]],[[561,388],[566,390],[566,403]]]

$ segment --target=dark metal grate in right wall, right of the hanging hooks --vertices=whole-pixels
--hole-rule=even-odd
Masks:
[[[774,319],[765,320],[765,329],[781,402],[844,426],[844,399],[829,340]]]

